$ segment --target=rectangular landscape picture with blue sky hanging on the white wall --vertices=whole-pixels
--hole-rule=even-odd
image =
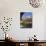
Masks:
[[[32,12],[20,12],[20,28],[32,28]]]

